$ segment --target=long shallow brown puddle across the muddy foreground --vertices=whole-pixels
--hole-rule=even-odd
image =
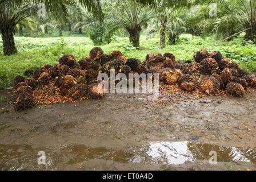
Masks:
[[[38,165],[38,151],[45,151],[46,165]],[[63,169],[91,159],[112,160],[118,163],[183,164],[196,160],[207,161],[210,158],[210,151],[217,152],[218,162],[235,161],[256,164],[255,148],[222,147],[198,142],[154,142],[123,150],[90,148],[81,144],[47,148],[0,144],[0,171]]]

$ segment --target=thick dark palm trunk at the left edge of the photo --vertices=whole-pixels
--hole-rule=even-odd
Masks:
[[[14,30],[14,27],[13,27]],[[15,47],[13,31],[1,28],[2,40],[3,40],[3,53],[4,55],[14,55],[17,53]]]

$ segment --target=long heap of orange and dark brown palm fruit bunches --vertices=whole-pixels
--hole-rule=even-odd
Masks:
[[[181,63],[172,53],[149,53],[141,63],[138,59],[126,59],[120,51],[104,55],[99,47],[94,47],[85,59],[75,60],[72,55],[64,55],[56,65],[44,64],[41,68],[27,70],[14,80],[13,93],[15,109],[22,110],[36,104],[73,102],[87,98],[102,98],[105,89],[98,87],[98,73],[159,73],[163,84],[177,85],[185,92],[207,95],[229,93],[242,97],[246,89],[256,88],[256,77],[220,52],[205,49],[194,53],[194,61]],[[33,77],[33,78],[32,78]],[[181,91],[181,92],[183,92]]]

